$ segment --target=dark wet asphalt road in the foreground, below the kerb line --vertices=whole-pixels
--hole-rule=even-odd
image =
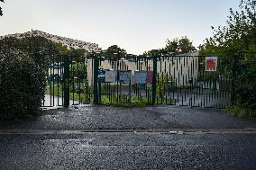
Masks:
[[[255,169],[255,133],[0,135],[0,169]]]

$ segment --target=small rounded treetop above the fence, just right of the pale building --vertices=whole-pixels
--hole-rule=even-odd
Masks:
[[[117,45],[112,45],[102,52],[102,56],[104,56],[105,58],[125,57],[126,54],[126,50],[121,49]]]

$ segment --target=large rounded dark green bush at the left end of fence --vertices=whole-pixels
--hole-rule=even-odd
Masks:
[[[0,120],[36,114],[44,97],[41,67],[18,49],[0,48]]]

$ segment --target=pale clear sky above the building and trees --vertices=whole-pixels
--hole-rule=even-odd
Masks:
[[[142,54],[187,36],[194,46],[224,25],[240,0],[5,0],[0,35],[39,30]]]

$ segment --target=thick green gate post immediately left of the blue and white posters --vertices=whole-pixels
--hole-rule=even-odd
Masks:
[[[98,67],[99,67],[99,60],[98,58],[93,54],[94,59],[94,103],[98,104]]]

